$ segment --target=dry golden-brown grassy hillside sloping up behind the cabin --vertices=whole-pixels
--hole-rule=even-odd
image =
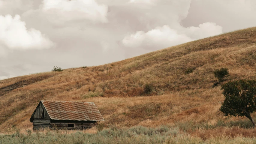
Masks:
[[[255,79],[255,63],[256,27],[111,64],[5,79],[0,81],[0,130],[31,129],[29,118],[41,100],[94,102],[103,124],[117,127],[246,127],[247,120],[218,112],[224,99],[220,87],[212,87],[213,71],[227,67],[230,79]]]

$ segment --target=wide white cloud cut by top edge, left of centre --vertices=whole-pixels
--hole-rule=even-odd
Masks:
[[[89,19],[94,22],[107,22],[108,7],[95,0],[44,0],[43,10],[56,14],[62,21]]]

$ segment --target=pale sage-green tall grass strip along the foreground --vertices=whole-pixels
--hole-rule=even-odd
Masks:
[[[179,128],[169,128],[161,126],[158,128],[146,128],[136,126],[132,128],[107,128],[95,133],[89,131],[64,131],[64,130],[45,130],[27,133],[21,133],[17,130],[13,134],[1,134],[0,143],[5,144],[174,144],[174,143],[256,143],[256,138],[243,137],[238,135],[232,137],[223,133],[224,129],[235,131],[236,128],[217,128],[210,133],[212,137],[204,138],[203,133],[209,133],[209,130],[197,129],[193,132],[179,130]],[[245,131],[255,133],[254,129],[245,129]],[[197,133],[199,135],[197,135]],[[201,133],[201,135],[200,135]],[[218,133],[218,136],[214,136]]]

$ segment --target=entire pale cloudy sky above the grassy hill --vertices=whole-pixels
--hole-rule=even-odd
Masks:
[[[0,79],[256,26],[255,0],[0,0]]]

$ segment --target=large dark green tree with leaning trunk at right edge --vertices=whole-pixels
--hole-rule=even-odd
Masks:
[[[236,80],[222,85],[225,100],[220,111],[225,116],[247,117],[256,127],[251,113],[256,110],[256,81]]]

